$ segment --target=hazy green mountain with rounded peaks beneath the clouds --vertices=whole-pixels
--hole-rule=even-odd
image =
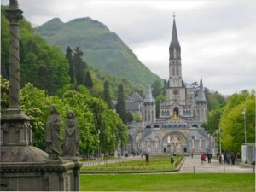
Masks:
[[[59,18],[49,20],[37,28],[38,33],[53,46],[66,51],[79,46],[84,52],[84,61],[104,73],[119,76],[146,90],[151,82],[160,79],[144,66],[132,50],[108,27],[89,17],[63,23]]]

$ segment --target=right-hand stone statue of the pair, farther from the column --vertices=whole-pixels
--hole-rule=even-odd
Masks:
[[[79,130],[78,121],[72,111],[67,112],[64,133],[64,156],[79,156]]]

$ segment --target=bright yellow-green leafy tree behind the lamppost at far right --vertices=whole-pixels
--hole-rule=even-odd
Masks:
[[[247,143],[255,142],[255,93],[236,93],[230,96],[220,119],[221,139],[226,150],[241,152],[241,144],[245,142],[243,108],[246,108]]]

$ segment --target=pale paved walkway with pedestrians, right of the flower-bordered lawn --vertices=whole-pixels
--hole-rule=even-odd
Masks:
[[[201,156],[195,155],[192,159],[186,156],[183,166],[176,173],[253,173],[253,167],[241,166],[239,164],[219,164],[218,160],[205,161],[201,164]]]

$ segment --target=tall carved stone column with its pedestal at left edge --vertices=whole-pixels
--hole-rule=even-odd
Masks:
[[[16,0],[10,0],[9,19],[9,108],[1,117],[1,146],[26,146],[31,143],[30,118],[20,109],[20,36],[22,10]]]

